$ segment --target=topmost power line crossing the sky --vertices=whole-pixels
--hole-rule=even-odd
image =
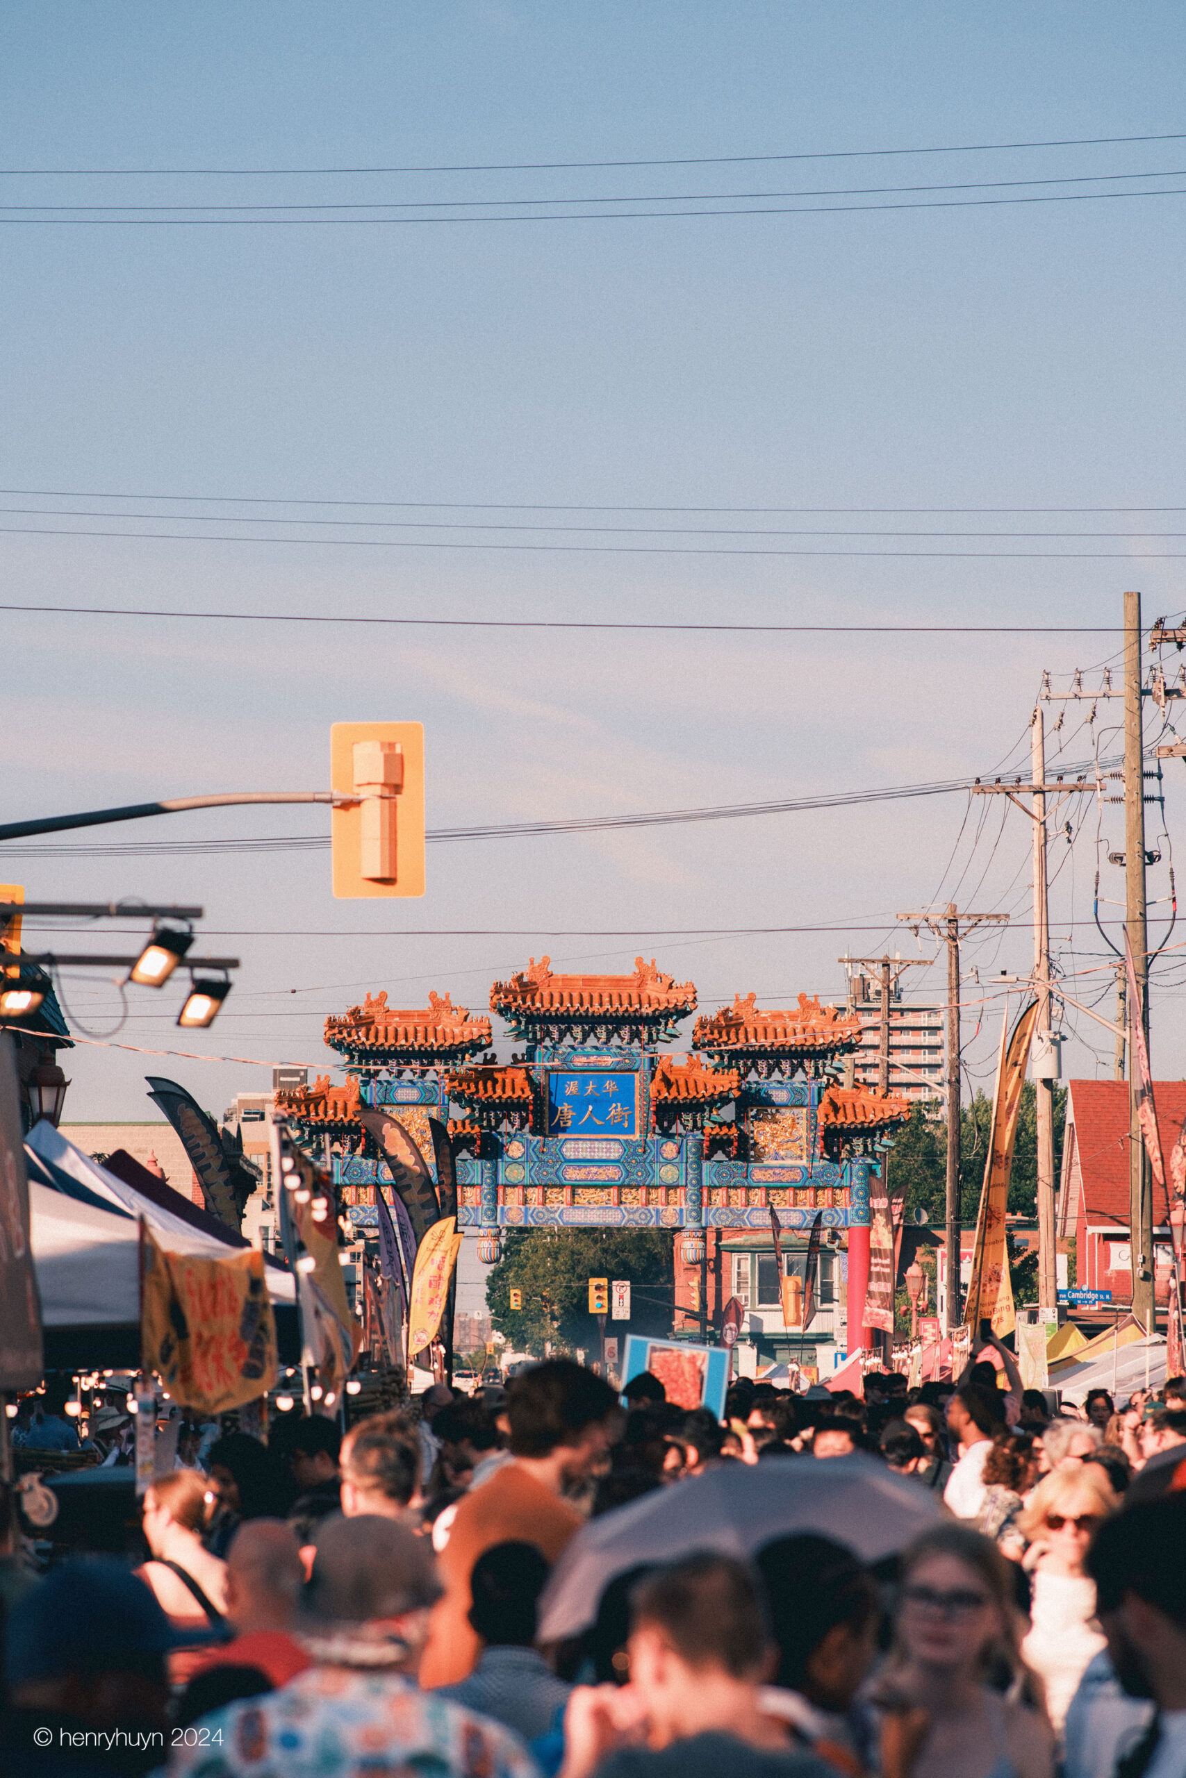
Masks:
[[[681,155],[647,160],[503,160],[402,167],[0,167],[4,178],[290,178],[368,172],[574,172],[610,167],[736,167],[786,160],[880,160],[896,155],[996,155],[1030,148],[1115,148],[1127,142],[1182,142],[1168,135],[1079,135],[1046,142],[953,142],[941,148],[841,148],[789,155]]]

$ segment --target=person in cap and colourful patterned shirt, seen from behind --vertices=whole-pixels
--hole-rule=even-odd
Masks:
[[[169,1778],[368,1778],[430,1771],[537,1778],[498,1723],[416,1686],[429,1611],[441,1593],[432,1550],[379,1515],[327,1518],[297,1632],[313,1657],[281,1691],[203,1718],[204,1746],[178,1746]]]

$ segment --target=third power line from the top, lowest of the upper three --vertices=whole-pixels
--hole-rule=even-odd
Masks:
[[[1172,174],[1166,174],[1172,178]],[[1047,183],[1047,181],[1042,181]],[[797,215],[868,215],[891,210],[983,210],[1001,204],[1086,204],[1131,197],[1181,197],[1182,185],[1143,192],[1051,192],[1031,197],[942,197],[932,203],[900,204],[763,204],[733,210],[558,210],[551,215],[482,217],[110,217],[110,215],[0,215],[0,228],[494,228],[530,222],[654,222],[677,217],[797,217]],[[640,199],[647,201],[647,199]],[[43,206],[39,206],[43,208]],[[78,208],[78,206],[71,206]],[[299,206],[308,208],[308,206]],[[357,206],[354,206],[357,208]]]

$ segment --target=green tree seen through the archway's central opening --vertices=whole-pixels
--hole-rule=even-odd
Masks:
[[[629,1278],[631,1319],[606,1321],[606,1334],[670,1334],[674,1237],[660,1229],[528,1229],[503,1237],[491,1268],[485,1301],[494,1326],[514,1351],[544,1355],[544,1341],[567,1351],[597,1350],[589,1314],[590,1278]],[[510,1289],[523,1309],[510,1309]]]

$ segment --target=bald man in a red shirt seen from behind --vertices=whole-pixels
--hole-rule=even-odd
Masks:
[[[272,1686],[286,1686],[311,1666],[292,1636],[301,1604],[304,1565],[292,1529],[281,1518],[249,1518],[226,1552],[226,1616],[235,1639],[220,1643],[201,1664],[258,1668]]]

